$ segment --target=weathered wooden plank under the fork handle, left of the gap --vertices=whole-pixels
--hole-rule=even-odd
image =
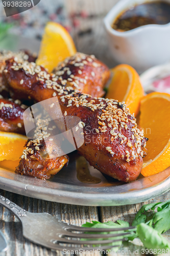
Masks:
[[[98,208],[48,202],[0,190],[1,195],[30,212],[48,212],[59,220],[81,226],[86,221],[98,219]],[[11,212],[0,206],[0,229],[8,240],[9,248],[1,256],[61,256],[62,252],[37,246],[22,236],[20,221]],[[84,254],[87,256],[88,254]],[[96,255],[97,256],[97,255]]]

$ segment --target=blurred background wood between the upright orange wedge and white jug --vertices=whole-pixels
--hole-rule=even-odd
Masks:
[[[113,60],[108,48],[103,18],[117,3],[117,0],[66,0],[65,3],[69,16],[72,13],[81,13],[82,11],[88,14],[87,17],[76,16],[79,26],[72,27],[72,36],[77,50],[86,54],[94,54],[109,68],[113,68],[116,62]],[[72,26],[73,23],[73,18],[70,18],[70,25]],[[88,30],[91,30],[91,32],[86,33]]]

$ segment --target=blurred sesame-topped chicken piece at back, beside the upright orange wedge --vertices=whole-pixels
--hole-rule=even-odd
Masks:
[[[102,97],[105,94],[103,88],[110,78],[110,71],[104,63],[98,59],[93,61],[93,58],[76,54],[61,62],[53,73],[62,76],[68,84],[74,83],[75,89],[78,88],[79,92],[90,94],[92,97]],[[67,80],[68,78],[72,81]]]

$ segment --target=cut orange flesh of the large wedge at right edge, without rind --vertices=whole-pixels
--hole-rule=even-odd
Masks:
[[[148,155],[143,162],[153,160],[168,143],[170,130],[170,102],[163,98],[152,98],[141,105],[140,126],[147,142]],[[148,113],[148,114],[147,114]]]

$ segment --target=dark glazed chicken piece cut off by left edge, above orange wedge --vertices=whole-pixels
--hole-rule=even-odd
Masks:
[[[20,105],[7,99],[0,99],[0,131],[25,134],[24,111]]]

